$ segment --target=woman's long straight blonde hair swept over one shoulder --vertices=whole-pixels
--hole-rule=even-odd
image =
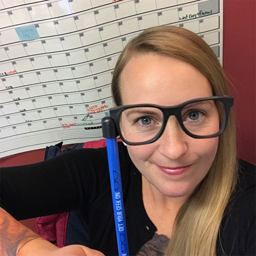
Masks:
[[[213,95],[229,95],[223,69],[211,47],[195,33],[176,26],[144,30],[125,46],[113,72],[112,93],[122,105],[120,75],[132,56],[153,52],[185,61],[210,82]],[[224,210],[238,180],[236,129],[231,109],[225,132],[219,136],[210,170],[179,209],[165,255],[216,255]]]

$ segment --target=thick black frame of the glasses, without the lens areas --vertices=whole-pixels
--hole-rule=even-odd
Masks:
[[[221,101],[225,108],[225,113],[224,113],[225,115],[223,116],[223,123],[222,123],[222,127],[220,127],[219,132],[212,134],[212,135],[207,135],[207,136],[194,135],[191,132],[189,132],[185,128],[185,126],[182,122],[182,117],[181,117],[181,110],[184,108],[184,106],[189,103],[193,103],[193,102],[197,102],[197,101],[215,100],[215,99],[218,99],[219,101]],[[160,136],[163,134],[163,131],[165,130],[169,116],[172,116],[172,115],[176,116],[183,131],[187,135],[191,136],[192,138],[207,139],[207,138],[217,137],[224,132],[224,130],[227,126],[230,108],[233,106],[233,104],[234,104],[233,97],[226,96],[226,95],[225,96],[211,96],[211,97],[191,99],[184,103],[181,103],[181,104],[178,104],[175,106],[170,106],[170,107],[164,107],[164,106],[159,106],[159,105],[155,105],[155,104],[133,104],[133,105],[118,106],[118,107],[109,109],[109,114],[110,114],[110,117],[114,120],[118,134],[120,135],[120,138],[123,140],[123,142],[127,143],[128,145],[136,146],[136,145],[150,144],[150,143],[155,142],[157,139],[159,139]],[[119,125],[119,117],[120,117],[121,113],[126,109],[136,108],[136,107],[154,107],[154,108],[160,109],[163,113],[163,124],[162,124],[160,131],[157,133],[157,135],[154,136],[154,138],[147,140],[146,142],[138,142],[138,143],[137,142],[129,142],[123,138],[122,133],[121,133],[121,129],[120,129],[120,125]]]

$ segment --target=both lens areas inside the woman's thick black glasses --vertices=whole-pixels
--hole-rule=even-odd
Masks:
[[[193,135],[213,135],[222,127],[225,108],[219,100],[192,102],[182,108],[181,118],[185,129]],[[163,112],[155,107],[129,108],[121,113],[119,123],[125,140],[146,142],[161,130]]]

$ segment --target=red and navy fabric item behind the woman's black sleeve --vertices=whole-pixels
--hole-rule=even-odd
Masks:
[[[117,141],[122,140],[117,139]],[[58,143],[55,146],[46,147],[45,160],[78,148],[106,147],[106,140],[101,139],[78,143],[71,148],[65,147],[62,151],[62,143],[63,142]],[[77,210],[38,217],[36,218],[36,227],[42,238],[59,248],[71,244],[88,245],[88,229],[86,223],[83,222],[83,219],[80,216],[80,212]]]

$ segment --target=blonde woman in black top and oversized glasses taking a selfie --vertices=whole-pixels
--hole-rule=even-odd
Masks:
[[[167,116],[165,127],[163,112],[153,106],[135,106],[121,114],[120,135],[126,143],[118,143],[118,150],[130,254],[255,254],[255,169],[237,161],[232,109],[225,132],[218,136],[228,110],[221,98],[209,97],[229,93],[210,46],[179,27],[147,29],[121,53],[112,92],[117,106],[182,106],[176,117]],[[78,208],[89,226],[89,247],[117,255],[105,148],[3,169],[1,180],[2,206],[16,219]],[[16,186],[15,196],[30,194],[29,202],[11,198],[10,186]],[[37,202],[39,196],[43,202]],[[23,251],[38,241],[29,241]],[[67,247],[51,247],[47,253],[64,255],[58,253]]]

